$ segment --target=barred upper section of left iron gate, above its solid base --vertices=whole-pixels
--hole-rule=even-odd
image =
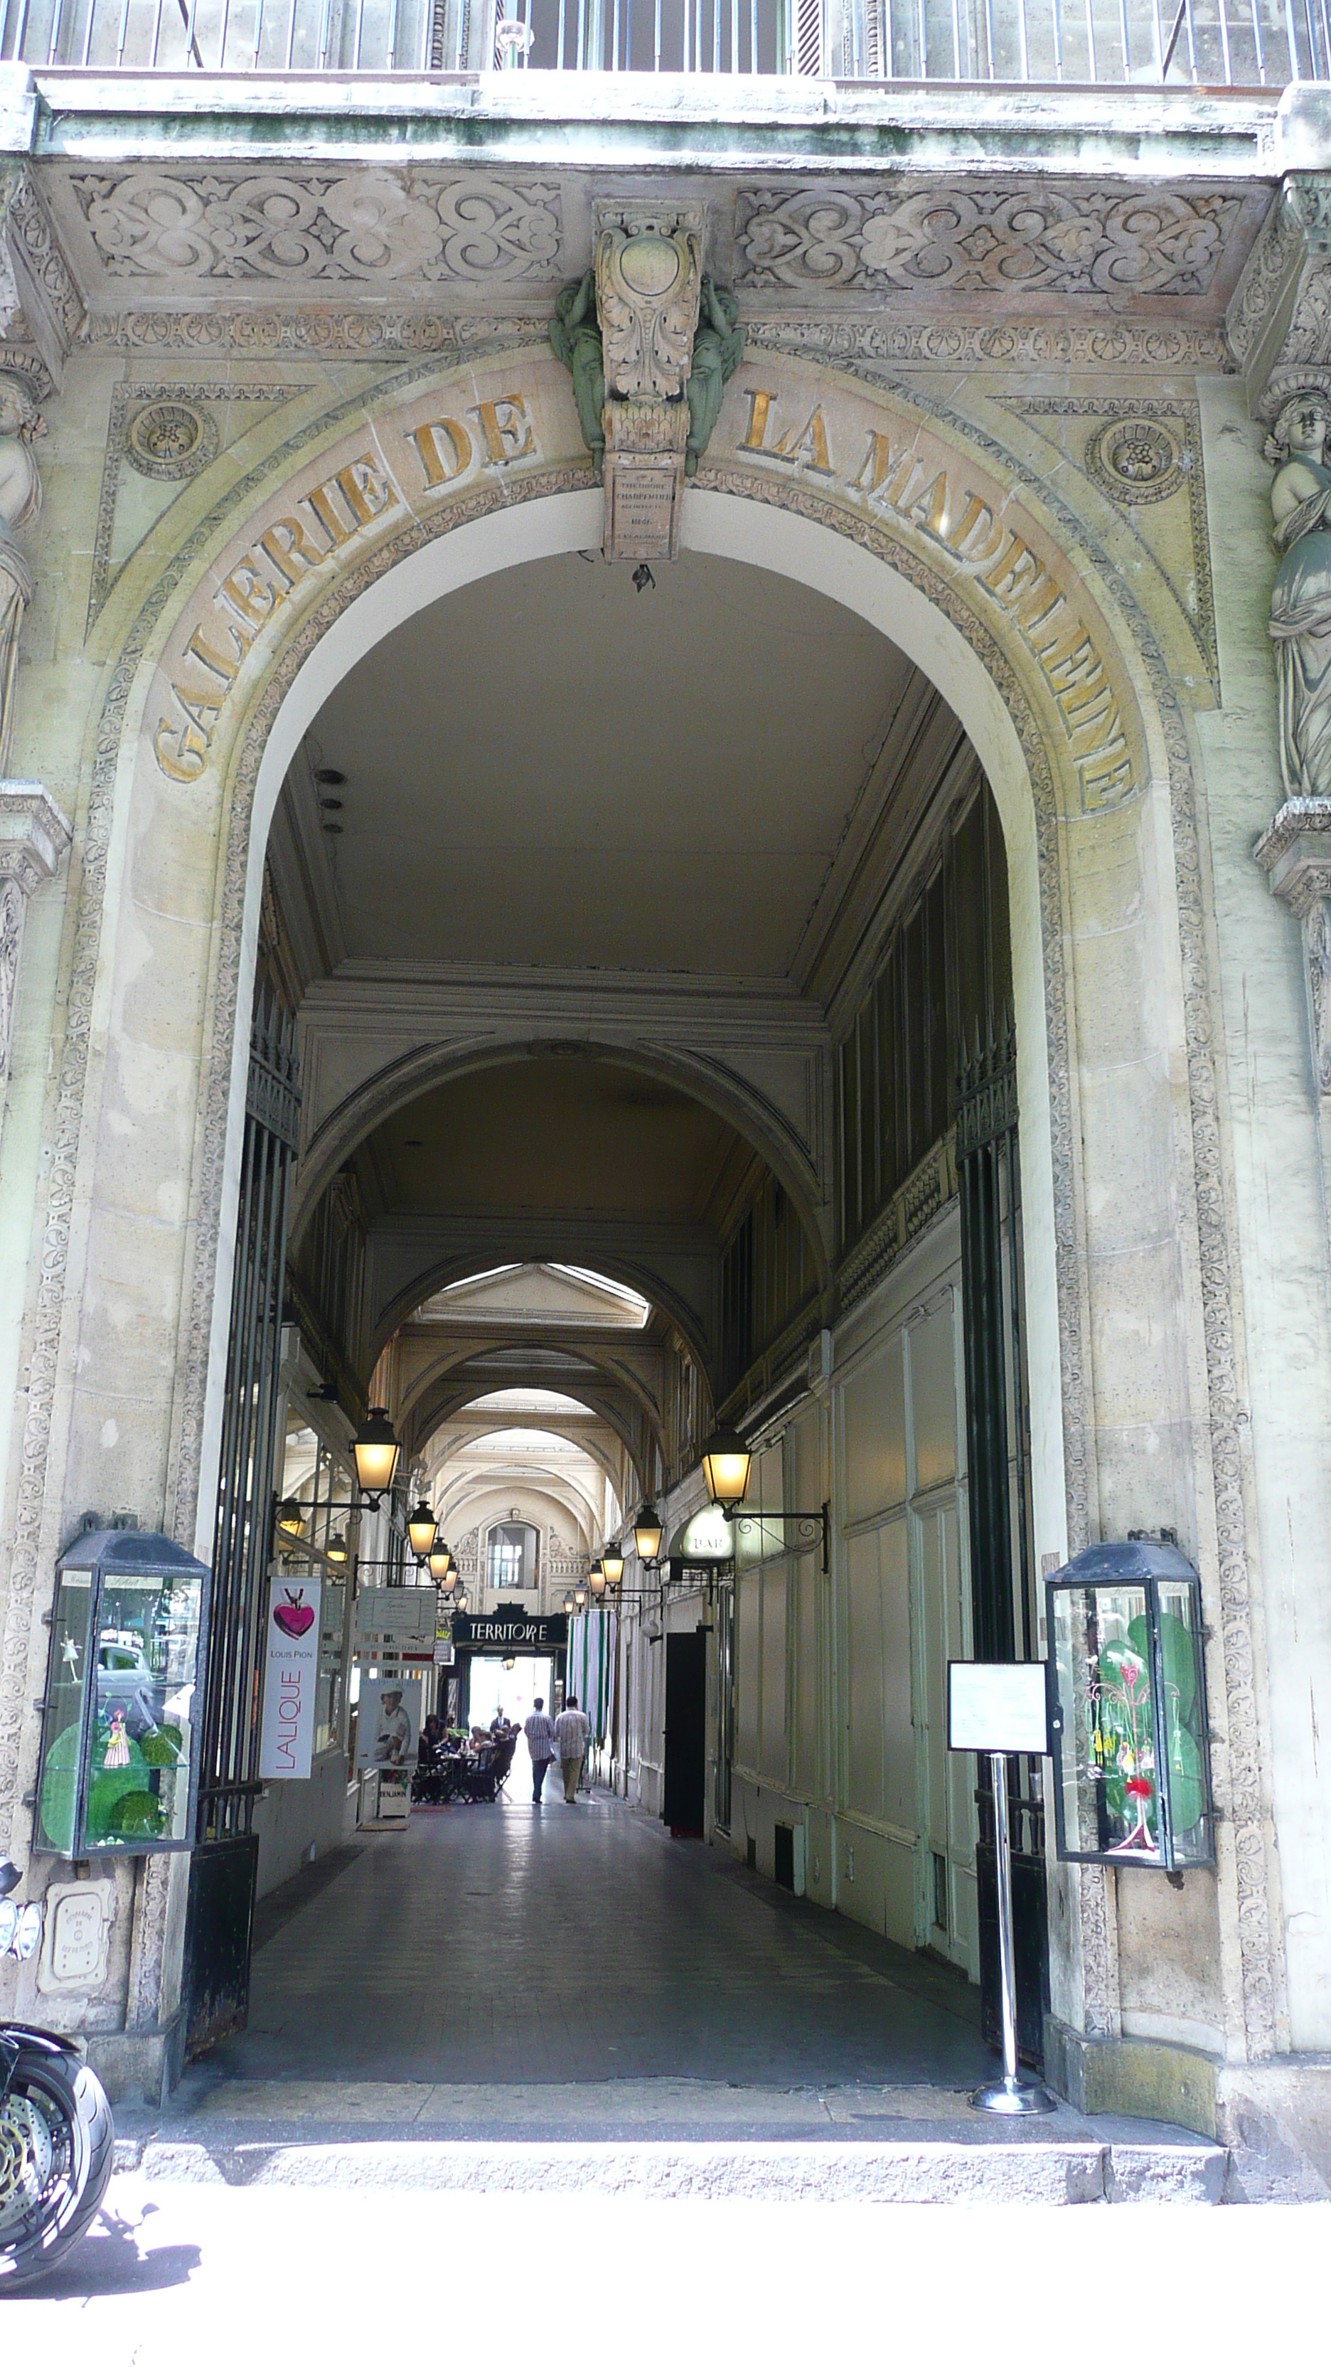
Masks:
[[[296,1023],[261,994],[249,1039],[227,1344],[199,1839],[246,1834],[258,1792],[258,1626],[268,1572],[287,1200],[301,1117]]]

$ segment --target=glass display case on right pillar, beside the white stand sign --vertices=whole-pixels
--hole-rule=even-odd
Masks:
[[[1089,1546],[1047,1579],[1061,1858],[1215,1858],[1201,1581],[1177,1546]]]

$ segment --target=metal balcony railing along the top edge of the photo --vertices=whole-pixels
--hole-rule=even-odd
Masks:
[[[97,73],[739,73],[1284,88],[1331,0],[0,0],[0,57]]]

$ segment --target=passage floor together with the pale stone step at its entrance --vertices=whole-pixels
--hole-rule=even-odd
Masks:
[[[976,2114],[954,1972],[597,1794],[417,1815],[261,1903],[249,2031],[118,2166],[258,2187],[1220,2201],[1224,2154]]]

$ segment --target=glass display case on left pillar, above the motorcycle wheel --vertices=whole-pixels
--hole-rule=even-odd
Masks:
[[[140,1529],[95,1529],[62,1555],[36,1849],[189,1849],[206,1591],[206,1562]]]

